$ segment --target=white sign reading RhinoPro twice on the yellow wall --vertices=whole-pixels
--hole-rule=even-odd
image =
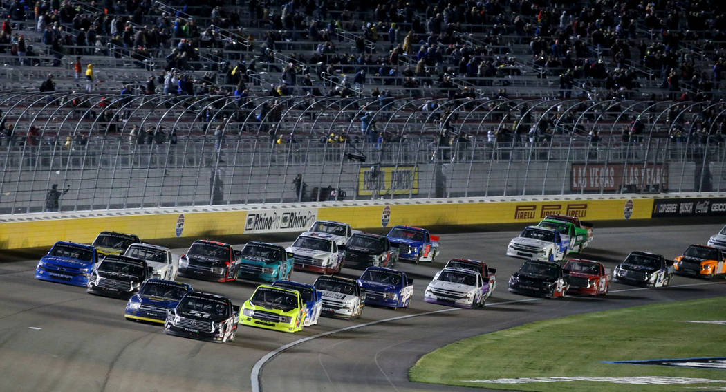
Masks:
[[[317,208],[248,211],[247,233],[303,232],[317,219]]]

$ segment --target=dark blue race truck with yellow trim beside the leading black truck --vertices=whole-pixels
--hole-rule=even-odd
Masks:
[[[127,320],[164,323],[166,311],[173,309],[185,294],[193,291],[187,283],[171,280],[149,279],[139,289],[139,293],[131,295],[126,303]]]

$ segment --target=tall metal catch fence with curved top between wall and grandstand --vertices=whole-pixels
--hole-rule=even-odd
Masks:
[[[61,211],[726,188],[724,102],[13,91],[0,109],[4,214],[44,211],[53,184]]]

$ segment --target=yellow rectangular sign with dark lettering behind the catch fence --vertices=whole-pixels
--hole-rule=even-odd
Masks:
[[[361,168],[358,195],[418,195],[417,166],[380,166]]]

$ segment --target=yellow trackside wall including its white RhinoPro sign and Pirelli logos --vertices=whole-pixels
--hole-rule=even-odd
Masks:
[[[0,248],[45,247],[57,240],[91,242],[102,230],[132,232],[144,240],[302,232],[315,219],[346,221],[356,229],[381,229],[397,224],[524,225],[551,213],[579,216],[587,221],[625,221],[650,219],[655,199],[654,195],[572,195],[29,213],[0,219]]]

